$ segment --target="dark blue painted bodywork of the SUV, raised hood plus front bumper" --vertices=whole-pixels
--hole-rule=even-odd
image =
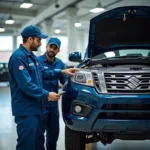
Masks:
[[[91,20],[89,43],[84,54],[83,61],[77,66],[81,68],[87,59],[93,55],[94,50],[99,50],[99,53],[112,51],[116,49],[129,49],[129,48],[150,48],[149,44],[144,45],[117,45],[114,44],[107,49],[97,47],[95,43],[95,24],[103,17],[111,17],[120,11],[122,13],[130,8],[144,10],[147,12],[147,16],[150,17],[150,7],[122,7],[116,8],[112,11],[108,11],[99,15]],[[140,11],[141,12],[141,11]],[[140,15],[140,14],[138,14]],[[103,119],[98,118],[98,115],[102,112],[146,112],[150,113],[150,110],[103,110],[104,104],[150,104],[150,94],[104,94],[96,91],[94,87],[84,86],[72,82],[69,78],[68,82],[64,86],[65,94],[62,96],[62,114],[63,119],[70,129],[81,132],[111,132],[111,133],[148,133],[150,131],[150,119]],[[92,106],[92,111],[86,117],[73,115],[72,104],[74,102],[80,102]]]

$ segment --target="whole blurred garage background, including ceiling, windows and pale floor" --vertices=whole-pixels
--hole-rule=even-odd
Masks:
[[[24,2],[29,2],[30,5],[21,8]],[[11,53],[22,43],[20,32],[25,26],[37,25],[49,37],[57,36],[60,38],[62,46],[58,57],[68,66],[75,65],[68,61],[68,54],[72,51],[84,53],[88,43],[90,19],[102,11],[128,5],[150,6],[150,0],[0,0],[0,75],[4,72],[3,69],[7,67],[5,64],[7,64]],[[37,55],[45,52],[46,42],[46,40],[42,40],[42,46]],[[15,148],[16,132],[11,115],[9,92],[9,88],[0,88],[0,150]],[[58,149],[64,147],[62,118],[60,126]],[[123,150],[122,144],[128,150],[129,147],[133,150],[130,145],[132,143],[128,142],[120,142],[119,145],[115,142],[112,146],[108,145],[104,148],[100,145],[100,147],[102,150]],[[147,142],[136,144],[139,147],[149,146]]]

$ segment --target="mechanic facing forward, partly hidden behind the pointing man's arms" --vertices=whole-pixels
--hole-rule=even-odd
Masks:
[[[49,39],[46,46],[46,53],[39,56],[39,63],[47,70],[65,69],[65,64],[55,56],[59,53],[61,41],[58,38],[52,37]],[[67,75],[62,74],[58,79],[44,79],[44,89],[50,92],[58,93],[59,81],[63,85],[67,80]],[[44,132],[46,131],[46,150],[56,150],[57,140],[59,136],[59,110],[58,101],[43,100],[44,113],[41,116],[41,147],[44,148]]]

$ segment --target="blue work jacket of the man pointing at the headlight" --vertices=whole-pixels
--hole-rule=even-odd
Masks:
[[[42,88],[42,78],[58,78],[61,70],[44,69],[37,57],[22,45],[11,55],[8,69],[13,115],[40,115],[43,112],[42,100],[48,100],[49,94]]]

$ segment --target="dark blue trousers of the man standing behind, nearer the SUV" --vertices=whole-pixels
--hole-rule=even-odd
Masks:
[[[40,150],[45,150],[44,133],[46,131],[46,150],[56,150],[59,136],[58,107],[51,107],[41,115],[40,123]]]

